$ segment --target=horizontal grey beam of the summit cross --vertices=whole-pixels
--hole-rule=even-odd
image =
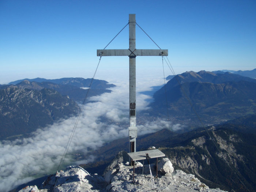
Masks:
[[[97,49],[97,56],[168,56],[168,49]]]

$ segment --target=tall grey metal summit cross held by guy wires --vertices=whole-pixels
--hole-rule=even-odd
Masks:
[[[129,14],[129,49],[99,49],[97,56],[129,56],[129,152],[136,152],[136,56],[167,56],[167,49],[136,49],[135,14]]]

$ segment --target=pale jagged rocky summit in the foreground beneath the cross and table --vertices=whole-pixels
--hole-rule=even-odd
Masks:
[[[120,157],[120,153],[118,155]],[[150,176],[149,165],[143,166],[142,163],[136,162],[133,182],[133,166],[129,166],[128,162],[124,163],[122,157],[110,163],[103,177],[98,174],[91,175],[79,166],[69,166],[65,171],[61,170],[49,176],[39,188],[36,185],[27,186],[19,192],[222,191],[218,188],[210,189],[193,174],[174,170],[168,158],[163,158],[158,162],[158,178],[155,178],[156,166],[150,164],[150,168],[154,178]]]

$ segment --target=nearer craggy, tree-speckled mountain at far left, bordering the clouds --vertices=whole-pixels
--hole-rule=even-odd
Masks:
[[[55,90],[0,89],[0,139],[31,133],[78,111],[74,101]]]

